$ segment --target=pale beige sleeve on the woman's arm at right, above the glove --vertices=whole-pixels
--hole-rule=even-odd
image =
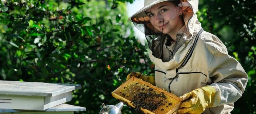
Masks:
[[[209,66],[209,76],[216,94],[213,107],[232,104],[245,91],[248,76],[240,63],[228,55],[227,49],[216,49]]]

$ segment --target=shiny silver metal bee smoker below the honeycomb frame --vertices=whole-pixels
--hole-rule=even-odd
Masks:
[[[121,109],[123,108],[123,103],[117,103],[117,105],[107,105],[101,103],[103,108],[100,110],[99,114],[122,114]]]

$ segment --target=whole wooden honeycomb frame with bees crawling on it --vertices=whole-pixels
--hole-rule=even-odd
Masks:
[[[112,96],[145,114],[176,114],[181,104],[178,96],[136,77],[125,81]]]

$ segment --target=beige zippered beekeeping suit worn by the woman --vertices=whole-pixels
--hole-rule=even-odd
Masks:
[[[154,57],[153,52],[149,52],[151,61],[155,63],[156,86],[178,96],[206,85],[213,86],[216,89],[214,104],[203,113],[229,114],[234,108],[233,103],[242,96],[248,76],[240,63],[228,55],[227,48],[219,38],[201,29],[195,14],[198,0],[188,0],[188,3],[193,12],[183,13],[186,25],[177,35],[181,35],[184,44],[173,58],[163,62],[166,60]],[[183,34],[184,31],[189,33]],[[163,44],[160,48],[167,56],[165,54],[173,50],[174,44],[165,46],[167,40],[160,41]]]

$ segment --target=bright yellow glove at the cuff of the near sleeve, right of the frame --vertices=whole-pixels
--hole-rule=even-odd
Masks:
[[[205,108],[212,107],[215,93],[214,87],[204,86],[184,94],[180,97],[183,103],[181,103],[178,113],[201,114]]]

